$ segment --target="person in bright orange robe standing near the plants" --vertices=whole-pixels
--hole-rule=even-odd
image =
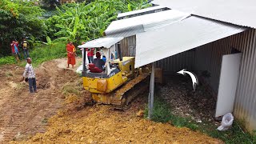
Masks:
[[[72,65],[72,68],[74,68],[75,65],[75,47],[72,44],[72,42],[68,42],[66,45],[66,52],[67,52],[67,67],[70,68],[70,64]]]

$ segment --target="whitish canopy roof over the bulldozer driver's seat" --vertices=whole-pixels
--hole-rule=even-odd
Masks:
[[[105,47],[110,48],[115,43],[121,41],[123,37],[118,38],[98,38],[94,39],[92,41],[86,42],[86,44],[83,44],[81,46],[78,46],[78,48],[94,48],[94,47]]]

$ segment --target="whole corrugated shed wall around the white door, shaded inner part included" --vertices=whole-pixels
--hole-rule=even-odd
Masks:
[[[231,49],[242,52],[242,62],[234,103],[234,116],[242,120],[247,130],[256,130],[256,30],[247,30],[228,38],[222,38],[200,46],[195,51],[186,51],[157,62],[158,67],[167,71],[182,68],[195,70],[198,74],[207,70],[206,78],[214,92],[218,93],[218,82],[222,55],[231,54]]]

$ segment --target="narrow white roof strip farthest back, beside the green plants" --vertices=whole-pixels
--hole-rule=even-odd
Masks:
[[[129,11],[126,13],[118,14],[118,18],[123,18],[123,17],[127,17],[130,15],[134,15],[134,14],[142,14],[145,12],[150,12],[150,11],[155,11],[155,10],[161,10],[161,9],[165,9],[165,8],[166,8],[166,6],[153,6],[153,7],[148,7],[146,9],[142,9],[142,10]]]

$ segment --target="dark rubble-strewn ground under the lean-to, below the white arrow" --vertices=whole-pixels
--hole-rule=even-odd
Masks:
[[[166,84],[158,86],[158,94],[170,103],[173,114],[191,118],[198,123],[220,125],[214,120],[216,100],[202,85],[193,91],[190,76],[166,75]]]

